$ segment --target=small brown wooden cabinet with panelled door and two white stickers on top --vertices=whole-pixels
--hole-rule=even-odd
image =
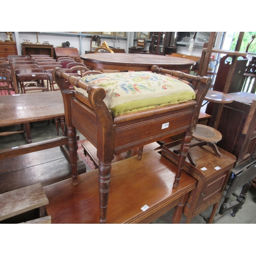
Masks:
[[[191,140],[191,145],[198,142]],[[177,164],[178,155],[173,151],[178,150],[181,140],[174,141],[162,146],[162,155],[170,161]],[[189,223],[195,216],[214,205],[212,214],[208,223],[212,223],[215,212],[221,200],[225,185],[227,183],[236,157],[219,148],[222,158],[215,155],[209,146],[195,146],[189,148],[193,155],[197,167],[191,165],[186,159],[184,170],[197,179],[197,187],[190,192],[188,200],[184,206],[183,214],[187,217],[186,223]]]

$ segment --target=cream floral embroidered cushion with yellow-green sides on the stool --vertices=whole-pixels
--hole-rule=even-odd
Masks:
[[[82,80],[105,89],[104,102],[115,116],[182,103],[196,97],[188,84],[151,72],[95,74],[83,77]],[[81,88],[75,87],[75,90],[88,96]]]

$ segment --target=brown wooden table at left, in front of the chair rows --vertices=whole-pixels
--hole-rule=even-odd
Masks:
[[[30,122],[55,119],[58,123],[60,118],[62,133],[65,130],[63,99],[59,91],[1,96],[0,116],[0,127],[24,124],[28,143],[32,142]],[[58,134],[58,126],[56,128]]]

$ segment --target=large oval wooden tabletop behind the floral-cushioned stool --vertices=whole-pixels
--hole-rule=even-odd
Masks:
[[[151,71],[153,65],[168,70],[190,70],[195,61],[178,57],[154,54],[84,54],[80,56],[86,66],[97,69],[125,70],[125,71]]]

